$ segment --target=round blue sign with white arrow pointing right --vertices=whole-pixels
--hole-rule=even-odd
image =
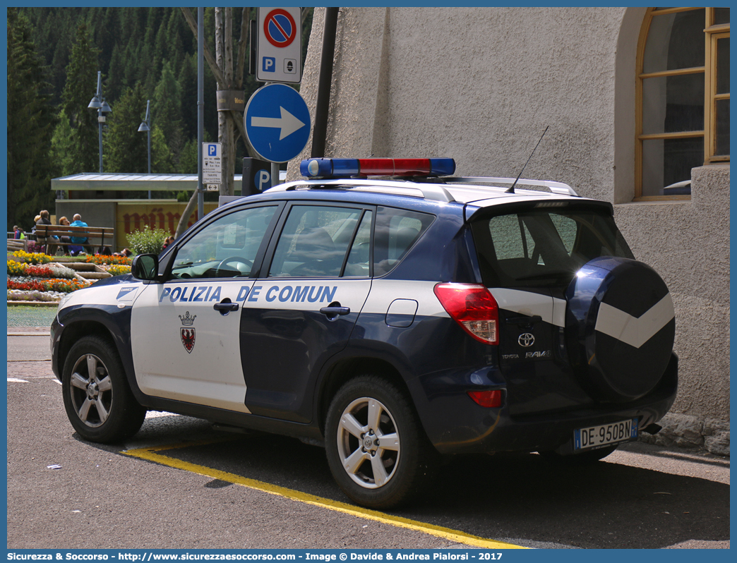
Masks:
[[[284,84],[256,90],[245,106],[243,125],[251,146],[265,161],[290,161],[310,139],[307,104],[298,91]]]

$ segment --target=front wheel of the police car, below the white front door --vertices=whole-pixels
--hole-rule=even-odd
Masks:
[[[80,338],[67,354],[61,388],[69,422],[82,438],[110,444],[139,431],[146,409],[136,402],[115,346]]]

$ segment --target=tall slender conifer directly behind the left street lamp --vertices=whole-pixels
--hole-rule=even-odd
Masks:
[[[87,26],[77,27],[66,67],[62,105],[72,129],[72,166],[76,172],[94,172],[98,164],[97,111],[88,109],[97,88],[97,49],[90,42]]]

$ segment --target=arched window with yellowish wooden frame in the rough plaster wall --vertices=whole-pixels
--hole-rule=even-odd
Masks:
[[[689,198],[730,160],[730,9],[649,8],[637,65],[635,200]]]

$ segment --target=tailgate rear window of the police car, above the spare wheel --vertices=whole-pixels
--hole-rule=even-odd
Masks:
[[[567,284],[599,256],[634,258],[612,217],[576,209],[534,209],[472,224],[488,287]]]

